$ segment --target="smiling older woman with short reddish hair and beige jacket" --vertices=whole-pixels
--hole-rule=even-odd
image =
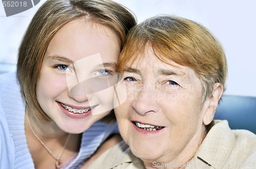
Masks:
[[[252,168],[256,136],[213,121],[227,63],[220,43],[201,24],[157,16],[135,26],[119,60],[115,109],[124,142],[95,168]],[[100,166],[99,166],[100,165]],[[254,166],[253,166],[254,165]]]

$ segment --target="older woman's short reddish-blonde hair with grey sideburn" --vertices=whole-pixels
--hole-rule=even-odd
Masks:
[[[227,63],[218,40],[203,25],[181,17],[160,15],[133,27],[120,54],[118,71],[131,66],[138,54],[148,49],[166,64],[169,60],[193,69],[201,79],[202,102],[212,93],[213,85],[225,86]],[[130,64],[130,65],[127,65]]]

